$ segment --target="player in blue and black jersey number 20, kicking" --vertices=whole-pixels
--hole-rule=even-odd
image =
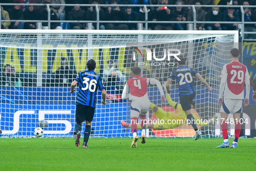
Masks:
[[[175,79],[178,83],[179,87],[179,97],[180,97],[180,104],[182,109],[185,111],[187,115],[187,119],[190,120],[191,126],[193,126],[196,134],[195,139],[197,140],[202,133],[198,130],[198,127],[196,126],[196,121],[194,117],[191,114],[191,101],[194,99],[196,95],[196,88],[194,85],[194,79],[193,77],[196,76],[198,79],[208,87],[209,91],[212,91],[212,87],[207,84],[207,82],[204,80],[204,78],[199,74],[197,71],[195,71],[193,68],[186,67],[186,60],[183,57],[179,57],[181,61],[178,61],[178,68],[174,69],[169,79],[166,83],[166,89],[167,93],[171,93],[170,90],[170,84],[173,79]]]

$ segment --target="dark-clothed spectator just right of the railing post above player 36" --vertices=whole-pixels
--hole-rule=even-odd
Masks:
[[[111,4],[118,4],[116,0],[112,0]],[[107,21],[124,21],[125,20],[125,11],[120,9],[119,6],[109,6],[105,13]],[[117,23],[107,23],[105,25],[107,30],[128,30],[126,24],[117,24]]]

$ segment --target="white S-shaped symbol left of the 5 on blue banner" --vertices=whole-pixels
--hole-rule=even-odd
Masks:
[[[2,134],[16,134],[19,131],[19,116],[21,114],[35,114],[35,110],[18,110],[13,115],[13,130],[2,131]]]

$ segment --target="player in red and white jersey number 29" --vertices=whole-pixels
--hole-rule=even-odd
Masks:
[[[249,104],[250,76],[246,66],[238,62],[240,55],[237,48],[231,49],[230,58],[232,62],[224,65],[220,76],[221,81],[218,103],[221,105],[220,120],[224,142],[217,146],[217,148],[229,147],[227,137],[228,125],[226,122],[229,113],[233,113],[233,119],[235,123],[235,139],[230,148],[237,148],[237,141],[239,139],[241,130],[240,114],[242,113],[242,103],[244,98],[244,84],[246,85],[246,97],[244,99],[244,106]],[[222,94],[224,88],[225,92],[223,100]]]

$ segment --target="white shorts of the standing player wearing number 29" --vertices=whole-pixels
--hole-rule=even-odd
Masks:
[[[242,112],[243,99],[227,99],[224,98],[220,112],[223,113],[241,113]]]

